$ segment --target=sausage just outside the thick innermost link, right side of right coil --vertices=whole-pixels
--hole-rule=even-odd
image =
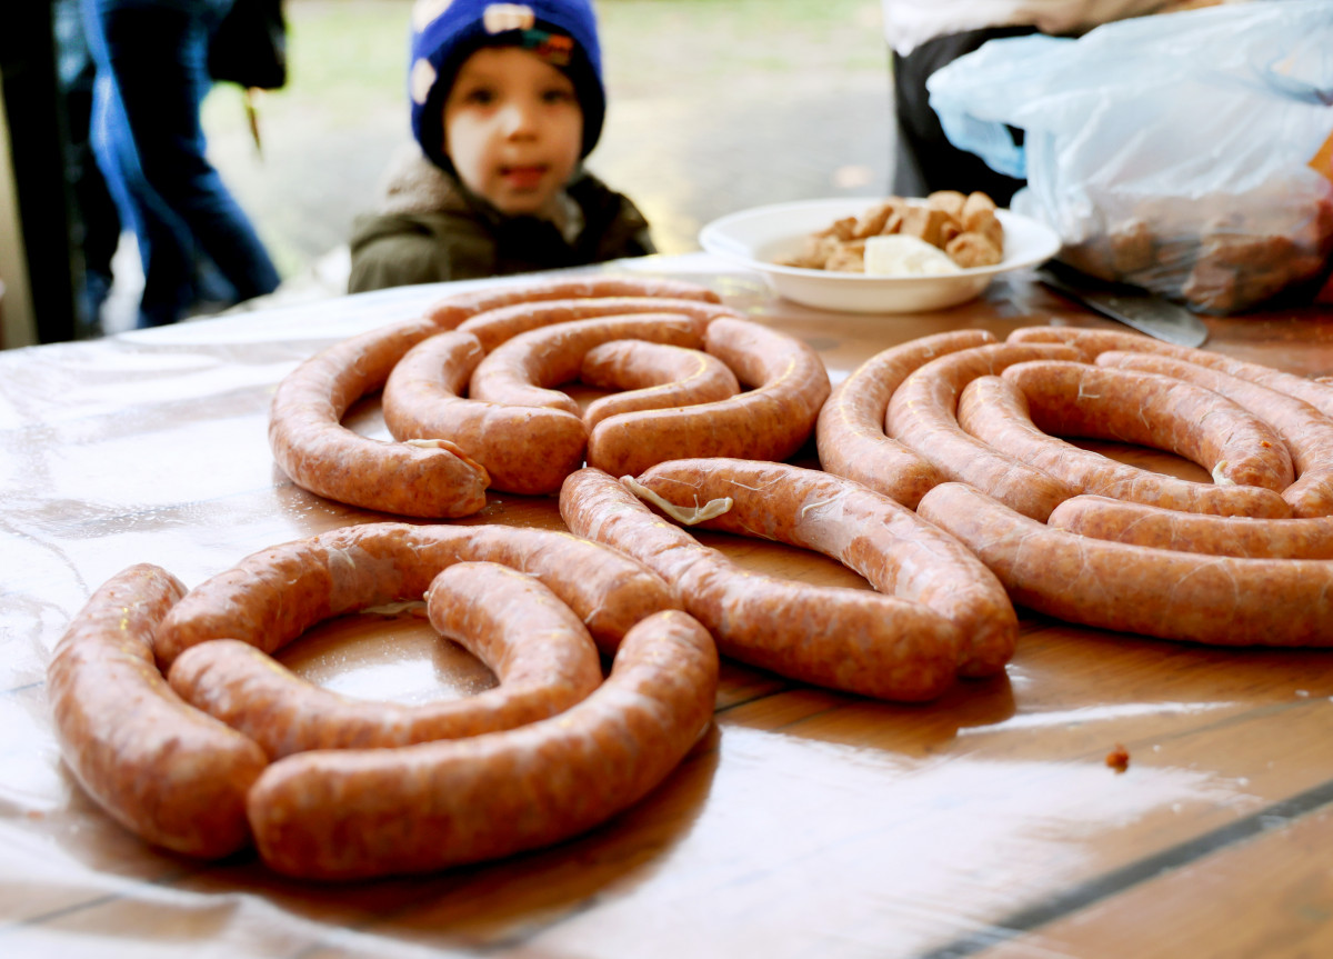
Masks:
[[[1304,400],[1170,356],[1108,351],[1098,365],[1174,376],[1212,389],[1270,424],[1286,443],[1297,479],[1282,490],[1294,516],[1333,515],[1333,420]]]

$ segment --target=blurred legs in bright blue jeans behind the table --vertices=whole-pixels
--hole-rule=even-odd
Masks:
[[[232,0],[81,0],[97,64],[91,139],[139,240],[139,325],[231,305],[280,281],[253,224],[205,156],[209,39]]]

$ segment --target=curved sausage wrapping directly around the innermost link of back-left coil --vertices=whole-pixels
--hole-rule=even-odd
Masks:
[[[706,324],[684,313],[599,316],[543,327],[505,340],[472,372],[468,395],[487,403],[548,407],[581,416],[579,403],[559,389],[579,379],[584,355],[611,340],[648,340],[698,349]]]

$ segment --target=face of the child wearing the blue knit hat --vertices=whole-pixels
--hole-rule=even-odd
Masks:
[[[573,83],[521,47],[479,49],[445,100],[444,149],[464,185],[500,212],[549,212],[583,152]]]

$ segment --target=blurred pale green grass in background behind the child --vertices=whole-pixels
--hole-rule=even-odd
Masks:
[[[264,96],[281,123],[331,125],[407,112],[411,0],[288,0],[289,83]],[[885,69],[878,0],[600,0],[608,97],[706,92],[745,75]],[[235,88],[219,87],[205,128],[239,131]]]

